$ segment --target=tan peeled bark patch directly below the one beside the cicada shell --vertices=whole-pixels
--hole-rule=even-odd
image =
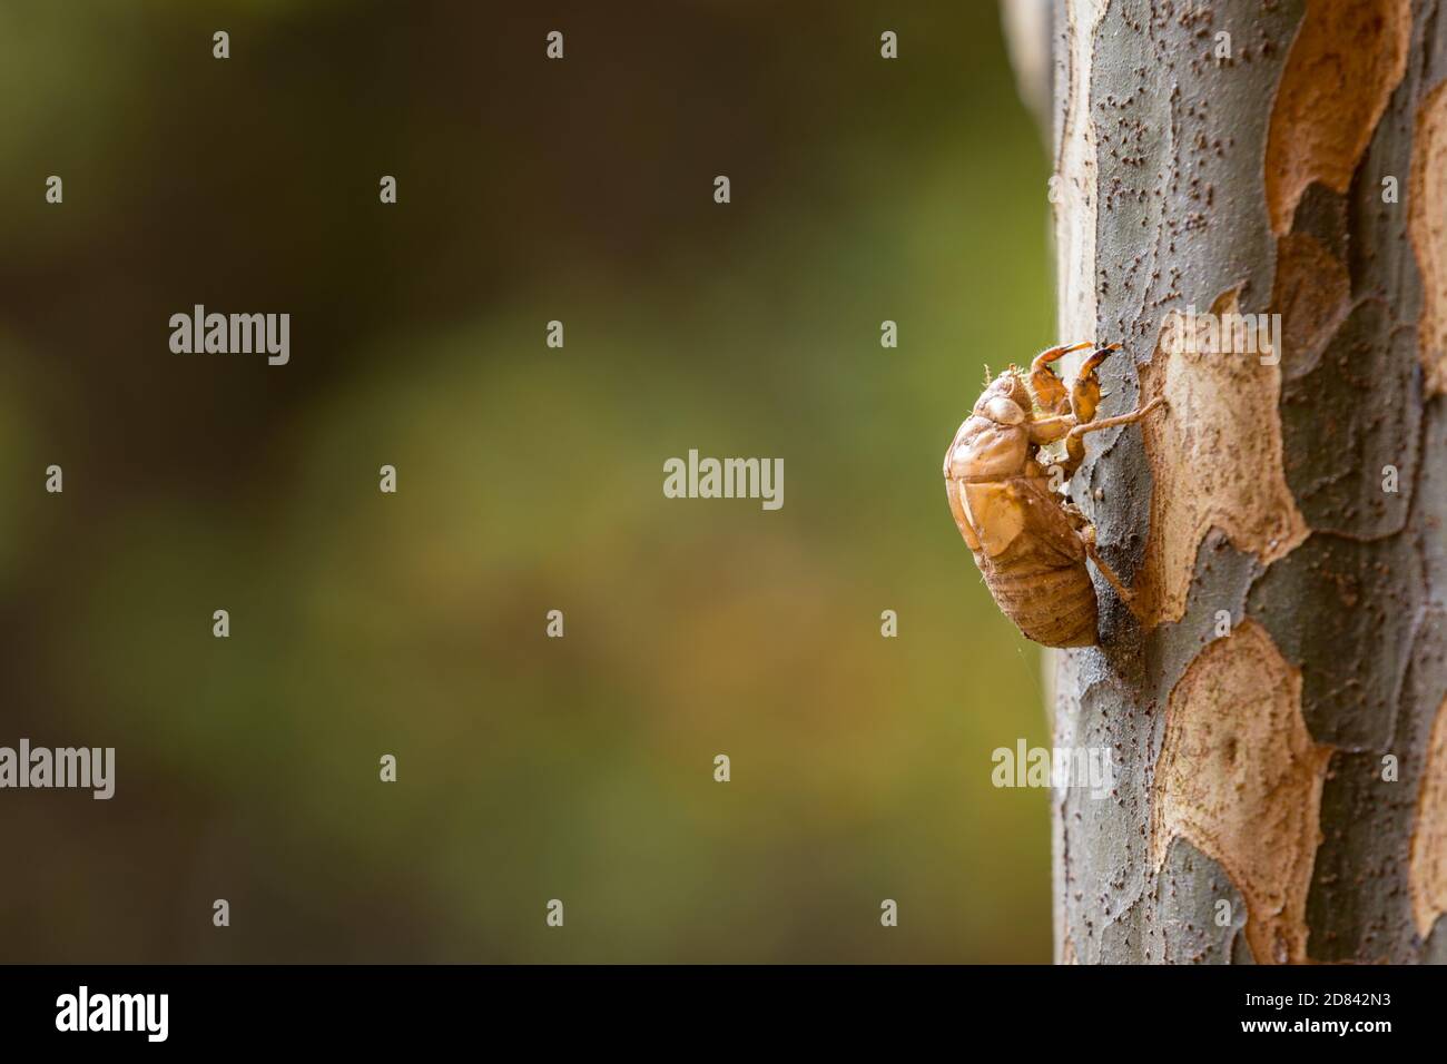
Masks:
[[[1150,856],[1215,858],[1246,900],[1257,963],[1307,958],[1307,893],[1330,747],[1301,717],[1301,672],[1255,621],[1197,654],[1171,691],[1152,783]]]

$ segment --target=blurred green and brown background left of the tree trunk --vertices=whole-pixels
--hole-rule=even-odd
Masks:
[[[9,3],[0,116],[0,744],[117,748],[0,792],[0,958],[1049,960],[941,481],[1055,340],[994,4]]]

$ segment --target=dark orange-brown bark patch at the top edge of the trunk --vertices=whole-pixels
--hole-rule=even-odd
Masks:
[[[1312,181],[1347,191],[1406,72],[1411,33],[1409,0],[1310,0],[1266,139],[1266,210],[1273,233],[1291,229]]]

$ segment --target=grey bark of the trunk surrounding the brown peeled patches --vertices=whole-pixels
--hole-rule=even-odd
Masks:
[[[1273,109],[1286,98],[1281,85],[1305,13],[1304,0],[1055,4],[1059,165],[1078,161],[1064,140],[1071,136],[1072,65],[1082,48],[1090,69],[1077,91],[1088,100],[1077,113],[1090,116],[1094,132],[1094,168],[1064,174],[1088,184],[1094,253],[1066,262],[1065,272],[1077,275],[1059,278],[1062,323],[1072,313],[1065,303],[1074,282],[1092,292],[1094,334],[1064,334],[1062,324],[1059,339],[1123,340],[1132,356],[1106,363],[1101,413],[1137,404],[1140,372],[1156,353],[1169,310],[1204,311],[1236,290],[1242,311],[1279,313],[1283,242],[1292,236],[1310,236],[1328,268],[1295,278],[1297,324],[1302,307],[1341,304],[1341,314],[1328,316],[1310,340],[1291,343],[1288,320],[1282,352],[1276,415],[1285,484],[1305,521],[1302,540],[1268,559],[1221,528],[1210,530],[1198,544],[1184,615],[1153,627],[1139,624],[1097,575],[1101,646],[1056,659],[1056,744],[1108,747],[1116,769],[1106,799],[1084,788],[1053,795],[1058,960],[1447,960],[1443,918],[1425,931],[1414,919],[1414,899],[1420,912],[1422,890],[1430,905],[1435,889],[1430,866],[1443,861],[1424,805],[1431,777],[1447,770],[1430,757],[1447,692],[1447,400],[1433,391],[1418,352],[1427,343],[1420,334],[1424,301],[1440,300],[1437,288],[1447,281],[1437,275],[1424,288],[1420,249],[1414,253],[1408,233],[1414,139],[1424,101],[1447,77],[1447,12],[1437,0],[1409,4],[1405,71],[1365,149],[1347,161],[1344,191],[1318,175],[1282,233],[1273,232],[1266,203],[1268,139]],[[1088,35],[1084,45],[1072,45],[1071,26]],[[1231,35],[1226,62],[1211,55],[1220,32]],[[1383,203],[1383,175],[1399,180],[1395,204]],[[1444,181],[1434,169],[1415,190],[1435,197],[1438,219]],[[1078,204],[1061,208],[1072,210],[1079,220]],[[1058,229],[1069,223],[1058,214]],[[1330,290],[1336,271],[1344,292]],[[1171,415],[1197,413],[1174,408]],[[1158,489],[1142,431],[1101,433],[1090,453],[1072,495],[1094,520],[1106,559],[1127,582],[1137,580],[1147,565]],[[1386,466],[1399,470],[1395,495],[1380,488]],[[1288,931],[1269,940],[1270,955],[1255,955],[1260,950],[1249,942],[1249,922],[1285,918],[1263,912],[1260,900],[1252,911],[1244,889],[1256,858],[1243,853],[1249,843],[1205,845],[1182,834],[1165,844],[1163,860],[1152,857],[1162,844],[1159,806],[1171,798],[1159,769],[1172,696],[1218,638],[1223,609],[1233,631],[1255,622],[1299,670],[1301,718],[1311,741],[1330,750],[1304,871],[1304,953],[1295,953]],[[1249,763],[1265,754],[1250,748],[1240,756]],[[1389,756],[1399,764],[1395,780],[1383,779]],[[1205,757],[1197,767],[1217,770]],[[1230,790],[1230,780],[1220,783]],[[1263,824],[1278,812],[1250,811]]]

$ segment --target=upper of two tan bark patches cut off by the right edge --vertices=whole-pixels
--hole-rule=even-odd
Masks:
[[[1422,317],[1417,327],[1427,395],[1447,392],[1447,81],[1417,109],[1408,232],[1422,275]]]

